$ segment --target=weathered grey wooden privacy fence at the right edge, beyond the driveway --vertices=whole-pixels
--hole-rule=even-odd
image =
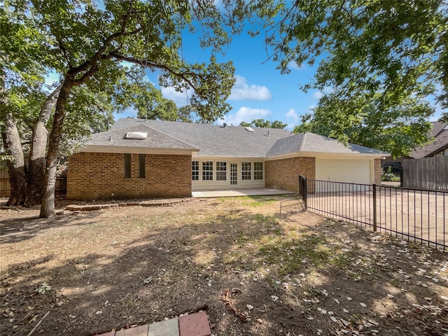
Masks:
[[[402,186],[426,190],[448,190],[448,156],[402,161]]]

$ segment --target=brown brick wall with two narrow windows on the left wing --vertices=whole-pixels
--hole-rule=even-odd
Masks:
[[[125,179],[125,154],[77,153],[69,158],[67,199],[191,197],[191,155],[146,154],[146,178],[139,179],[139,155],[131,155]]]

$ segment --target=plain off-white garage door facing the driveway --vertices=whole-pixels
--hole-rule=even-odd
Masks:
[[[316,159],[316,180],[370,184],[370,160]]]

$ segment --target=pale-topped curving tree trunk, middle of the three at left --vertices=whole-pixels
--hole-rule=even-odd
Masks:
[[[45,188],[43,181],[45,178],[45,152],[47,150],[48,137],[46,126],[52,110],[55,108],[61,86],[56,87],[47,99],[45,99],[31,137],[27,199],[30,205],[40,204],[42,200],[43,190]]]

